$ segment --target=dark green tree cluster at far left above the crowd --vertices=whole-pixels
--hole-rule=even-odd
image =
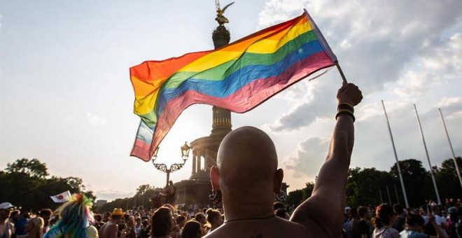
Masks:
[[[83,193],[83,181],[76,177],[59,178],[48,176],[45,163],[38,159],[22,158],[6,165],[5,171],[0,171],[0,201],[8,201],[24,209],[50,208],[55,209],[60,204],[53,202],[50,195],[57,195],[66,190],[71,193]],[[10,189],[8,189],[10,188]],[[92,191],[85,192],[87,197],[96,200]]]

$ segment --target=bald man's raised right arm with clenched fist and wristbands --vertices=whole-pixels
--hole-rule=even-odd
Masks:
[[[290,221],[302,223],[325,237],[340,237],[346,197],[346,179],[354,142],[353,106],[363,99],[356,85],[347,83],[337,92],[337,123],[330,148],[319,171],[311,197],[300,204]],[[323,236],[324,237],[324,236]]]

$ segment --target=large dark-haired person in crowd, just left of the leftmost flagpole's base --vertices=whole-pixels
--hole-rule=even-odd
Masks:
[[[399,238],[400,233],[393,228],[396,221],[395,211],[390,204],[381,204],[375,211],[375,229],[373,238]]]

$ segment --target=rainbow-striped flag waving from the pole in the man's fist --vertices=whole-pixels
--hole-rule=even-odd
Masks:
[[[216,50],[130,68],[134,113],[141,117],[133,156],[151,160],[181,112],[210,104],[244,113],[337,58],[305,10]]]

